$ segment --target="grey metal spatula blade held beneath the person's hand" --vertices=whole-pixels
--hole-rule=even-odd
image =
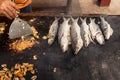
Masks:
[[[10,39],[20,38],[22,36],[28,36],[31,34],[33,34],[33,32],[30,25],[20,18],[15,18],[12,24],[10,25],[9,29]]]

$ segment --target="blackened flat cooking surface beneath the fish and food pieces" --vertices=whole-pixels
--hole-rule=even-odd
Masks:
[[[33,25],[39,32],[40,44],[18,54],[6,47],[9,39],[4,37],[6,44],[0,45],[0,65],[5,63],[12,67],[16,63],[33,63],[37,80],[120,80],[120,17],[107,16],[106,20],[114,30],[110,40],[104,46],[90,43],[74,55],[71,46],[62,53],[57,38],[51,46],[41,38],[47,35],[54,17],[38,17]],[[33,60],[34,55],[37,55],[37,60]],[[54,68],[56,72],[53,72]],[[30,76],[26,76],[27,80]]]

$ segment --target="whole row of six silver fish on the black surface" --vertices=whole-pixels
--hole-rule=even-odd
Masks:
[[[59,26],[59,19],[55,18],[54,22],[50,26],[48,33],[48,44],[52,45],[56,36],[58,36],[58,42],[62,49],[62,52],[68,50],[69,45],[72,45],[74,54],[77,54],[83,45],[87,47],[90,42],[95,44],[95,40],[100,44],[104,45],[105,40],[108,40],[113,34],[113,29],[110,24],[100,17],[100,26],[95,23],[95,19],[90,18],[90,23],[87,24],[87,18],[65,18]],[[78,24],[78,20],[82,22]],[[69,24],[70,20],[72,21]],[[58,35],[57,35],[58,34]]]

